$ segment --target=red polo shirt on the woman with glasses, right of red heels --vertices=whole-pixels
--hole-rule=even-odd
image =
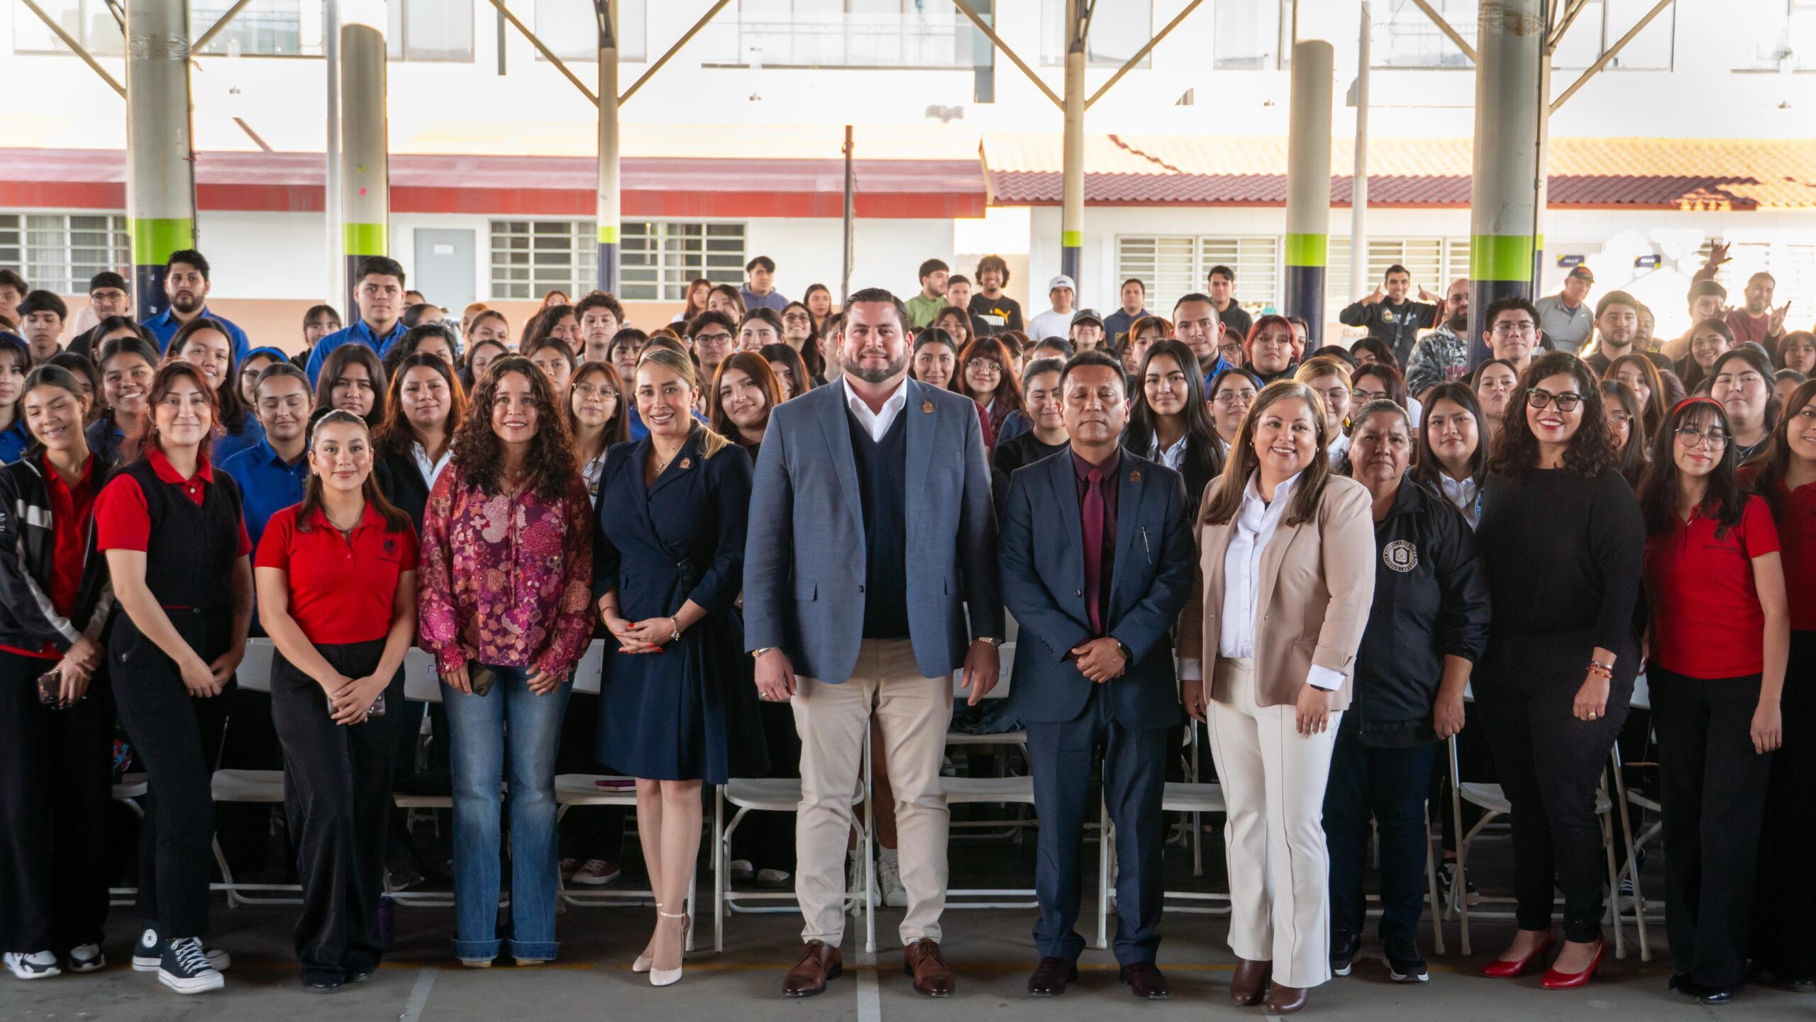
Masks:
[[[1734,527],[1698,511],[1645,540],[1653,660],[1691,678],[1763,671],[1765,611],[1752,584],[1752,558],[1767,553],[1778,553],[1778,527],[1758,496],[1747,496]]]

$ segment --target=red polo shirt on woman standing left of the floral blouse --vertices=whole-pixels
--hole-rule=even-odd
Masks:
[[[316,646],[374,642],[390,631],[398,576],[416,571],[416,531],[390,529],[369,504],[352,538],[312,511],[309,529],[285,507],[265,524],[252,567],[289,573],[291,618]]]

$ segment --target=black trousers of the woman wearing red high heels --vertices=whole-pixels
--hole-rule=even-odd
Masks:
[[[1564,938],[1602,935],[1607,853],[1596,789],[1627,720],[1638,647],[1616,649],[1607,713],[1576,720],[1591,640],[1509,638],[1476,671],[1476,706],[1502,791],[1513,804],[1513,884],[1520,929],[1549,929],[1553,891],[1564,891]]]

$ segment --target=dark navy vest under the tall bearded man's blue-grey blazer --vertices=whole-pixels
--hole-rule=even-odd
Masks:
[[[864,638],[908,638],[908,411],[883,440],[844,416],[864,507]]]

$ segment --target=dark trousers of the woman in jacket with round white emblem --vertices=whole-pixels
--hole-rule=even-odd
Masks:
[[[1344,718],[1349,724],[1349,718]],[[1358,727],[1337,729],[1324,789],[1324,844],[1331,849],[1331,929],[1362,933],[1369,818],[1380,833],[1380,938],[1411,944],[1426,902],[1426,795],[1438,746],[1377,749]]]

